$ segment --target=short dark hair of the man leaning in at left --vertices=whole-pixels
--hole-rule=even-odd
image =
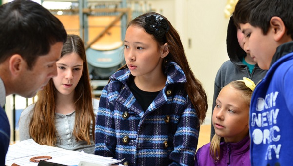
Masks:
[[[38,56],[49,53],[51,45],[66,42],[63,24],[42,5],[15,0],[0,6],[0,63],[19,54],[32,69]]]

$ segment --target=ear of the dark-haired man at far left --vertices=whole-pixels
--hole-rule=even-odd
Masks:
[[[9,70],[12,75],[19,75],[26,68],[26,61],[19,54],[14,54],[9,59]]]

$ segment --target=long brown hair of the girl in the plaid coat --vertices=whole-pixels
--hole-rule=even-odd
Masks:
[[[200,81],[195,78],[193,72],[191,71],[187,58],[185,56],[185,52],[184,52],[182,42],[180,40],[180,36],[178,32],[175,30],[175,28],[171,25],[170,21],[168,21],[166,17],[162,16],[159,13],[148,12],[130,21],[127,28],[131,25],[145,28],[145,25],[146,25],[145,18],[146,16],[149,16],[149,15],[157,15],[157,16],[163,17],[167,21],[170,27],[168,32],[165,33],[163,37],[157,37],[153,34],[150,34],[150,35],[154,37],[154,39],[156,40],[159,46],[164,45],[165,43],[168,44],[170,52],[164,58],[163,63],[171,62],[171,61],[176,62],[182,68],[187,80],[187,82],[184,83],[184,88],[192,104],[195,107],[197,117],[200,123],[199,125],[201,125],[205,120],[206,112],[208,109],[207,95]],[[162,67],[165,67],[165,65],[163,64]],[[124,65],[122,68],[127,68],[127,65]],[[165,69],[163,68],[163,71],[164,70]]]

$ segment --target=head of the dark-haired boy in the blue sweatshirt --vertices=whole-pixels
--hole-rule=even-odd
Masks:
[[[276,48],[293,39],[291,0],[239,0],[234,22],[245,36],[245,51],[260,68],[269,69]]]

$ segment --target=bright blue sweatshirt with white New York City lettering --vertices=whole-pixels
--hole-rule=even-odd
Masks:
[[[293,42],[280,45],[250,106],[251,165],[291,166]]]

